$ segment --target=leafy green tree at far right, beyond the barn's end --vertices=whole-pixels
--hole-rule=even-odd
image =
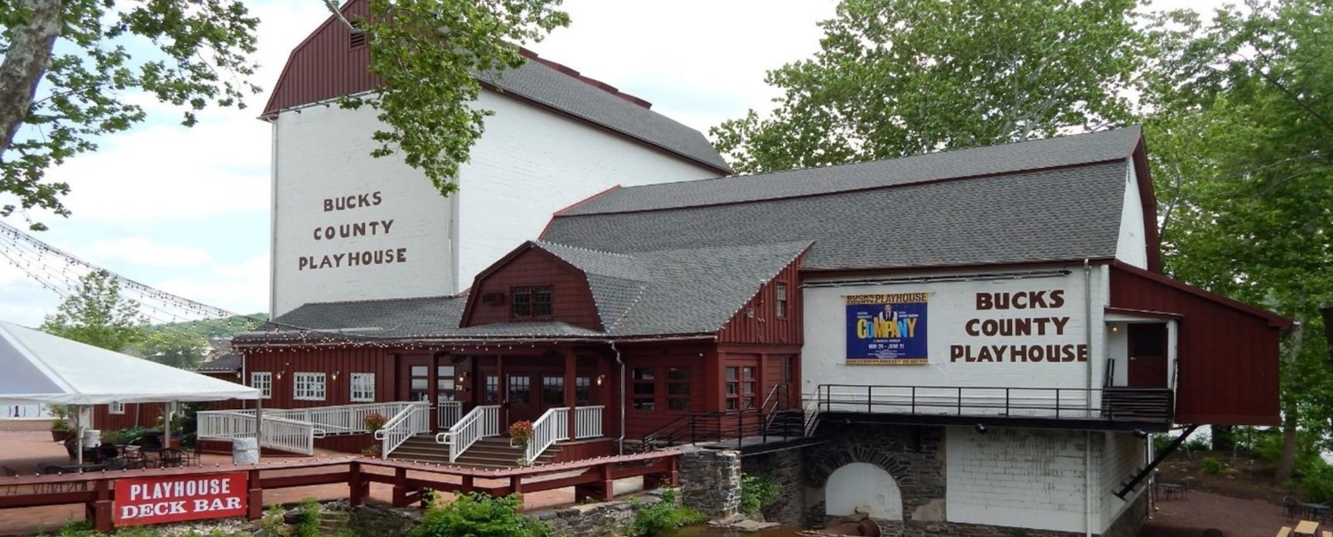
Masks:
[[[1326,432],[1333,416],[1333,326],[1304,328],[1333,304],[1333,12],[1253,1],[1208,21],[1165,13],[1150,35],[1166,269],[1301,322],[1282,362],[1285,481],[1297,430]]]

